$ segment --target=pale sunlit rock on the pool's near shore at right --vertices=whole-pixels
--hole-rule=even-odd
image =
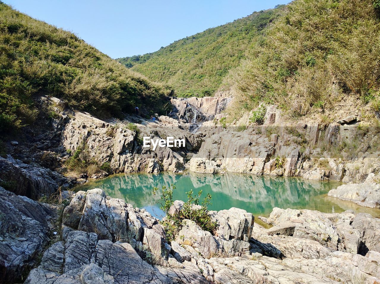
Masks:
[[[339,250],[362,255],[370,250],[380,251],[380,219],[366,213],[355,214],[351,210],[340,214],[321,213],[313,210],[284,210],[276,207],[264,221],[274,225],[273,228],[292,226],[294,227],[293,237],[312,240],[316,245],[319,243],[331,251]],[[253,238],[263,242],[277,238],[273,234],[269,235],[266,237],[253,234]],[[299,246],[296,247],[299,248]],[[288,253],[291,251],[291,249],[282,250],[281,248],[280,250],[288,251]]]

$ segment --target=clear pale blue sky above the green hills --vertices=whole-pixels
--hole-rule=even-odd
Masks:
[[[112,58],[145,54],[177,39],[290,0],[3,0],[78,35]]]

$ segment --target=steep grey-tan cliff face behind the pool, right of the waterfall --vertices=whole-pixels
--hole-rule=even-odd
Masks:
[[[380,170],[378,129],[363,129],[357,113],[329,125],[294,123],[273,105],[266,107],[263,125],[255,126],[251,117],[246,113],[226,128],[204,123],[199,133],[205,142],[190,160],[190,170],[344,182],[364,181]]]

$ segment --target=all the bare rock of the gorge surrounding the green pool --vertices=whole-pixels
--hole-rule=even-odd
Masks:
[[[252,112],[225,125],[228,95],[173,98],[171,117],[158,121],[132,115],[101,120],[41,97],[41,106],[56,115],[9,142],[0,158],[4,281],[378,283],[380,224],[366,213],[274,208],[255,219],[238,208],[209,211],[217,222],[214,232],[184,220],[168,241],[158,219],[101,189],[79,191],[67,201],[60,197],[70,202],[65,208],[44,203],[78,182],[109,174],[70,172],[65,165],[81,150],[114,173],[190,170],[341,180],[348,184],[329,196],[380,207],[379,134],[364,131],[359,114],[325,126],[289,125],[276,106],[265,106],[263,125],[250,121]],[[142,147],[144,136],[173,136],[186,144],[153,151]]]

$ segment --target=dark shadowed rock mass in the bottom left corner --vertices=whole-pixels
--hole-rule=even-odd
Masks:
[[[49,241],[55,210],[0,187],[0,279],[14,282],[33,267]]]

